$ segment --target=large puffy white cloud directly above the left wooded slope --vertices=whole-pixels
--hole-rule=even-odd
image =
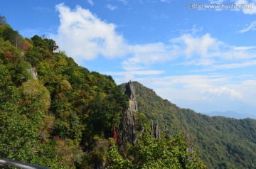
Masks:
[[[80,6],[71,11],[68,6],[58,4],[56,9],[60,12],[60,26],[52,38],[77,62],[92,60],[98,55],[106,58],[124,55],[126,44],[114,24],[101,21]]]

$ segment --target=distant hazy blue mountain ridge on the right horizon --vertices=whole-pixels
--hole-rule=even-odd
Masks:
[[[209,116],[225,116],[225,117],[230,117],[230,118],[235,118],[235,119],[256,119],[256,116],[252,114],[239,114],[236,111],[211,111],[210,113],[206,113],[206,115]]]

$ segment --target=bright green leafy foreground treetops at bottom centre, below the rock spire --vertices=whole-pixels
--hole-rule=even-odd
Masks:
[[[187,151],[187,143],[180,134],[174,138],[152,138],[146,129],[135,145],[127,146],[121,156],[112,138],[107,168],[206,168],[194,152]]]

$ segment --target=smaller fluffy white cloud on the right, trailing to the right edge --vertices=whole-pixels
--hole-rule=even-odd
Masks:
[[[256,58],[255,47],[231,46],[212,38],[209,33],[203,36],[183,35],[170,40],[177,46],[180,55],[186,58],[201,58],[204,62],[216,60],[244,60]]]

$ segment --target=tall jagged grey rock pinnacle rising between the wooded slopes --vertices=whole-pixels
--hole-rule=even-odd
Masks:
[[[129,97],[129,107],[124,109],[122,114],[122,122],[119,125],[119,137],[118,143],[120,146],[124,146],[126,142],[136,143],[136,120],[135,114],[138,111],[137,100],[135,97],[135,89],[132,82],[128,82],[125,87],[125,94]]]

